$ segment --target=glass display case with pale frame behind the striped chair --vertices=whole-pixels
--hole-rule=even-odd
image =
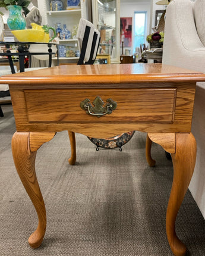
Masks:
[[[119,63],[119,0],[92,0],[93,24],[100,32],[99,54]]]

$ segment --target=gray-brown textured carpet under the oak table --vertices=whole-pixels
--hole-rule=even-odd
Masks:
[[[37,215],[15,171],[11,105],[0,118],[0,255],[172,255],[165,216],[172,185],[172,162],[154,144],[156,167],[145,158],[146,134],[136,132],[118,150],[96,151],[77,134],[77,163],[69,166],[67,132],[57,133],[37,152],[36,173],[45,199],[48,226],[39,249],[27,239]],[[205,221],[188,191],[176,220],[187,255],[205,255]]]

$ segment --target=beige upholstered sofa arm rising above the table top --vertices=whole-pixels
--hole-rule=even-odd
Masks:
[[[168,5],[162,63],[205,72],[205,47],[198,38],[190,1],[173,0]]]

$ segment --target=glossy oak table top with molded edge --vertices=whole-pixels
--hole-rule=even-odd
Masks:
[[[35,78],[33,78],[35,77]],[[185,68],[155,64],[60,65],[57,67],[12,74],[1,77],[9,85],[69,85],[69,84],[122,84],[141,82],[200,82],[205,74]]]

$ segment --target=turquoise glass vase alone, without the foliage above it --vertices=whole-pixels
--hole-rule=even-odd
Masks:
[[[12,30],[26,29],[26,20],[21,15],[22,7],[20,5],[8,5],[10,14],[7,19],[7,25]]]

